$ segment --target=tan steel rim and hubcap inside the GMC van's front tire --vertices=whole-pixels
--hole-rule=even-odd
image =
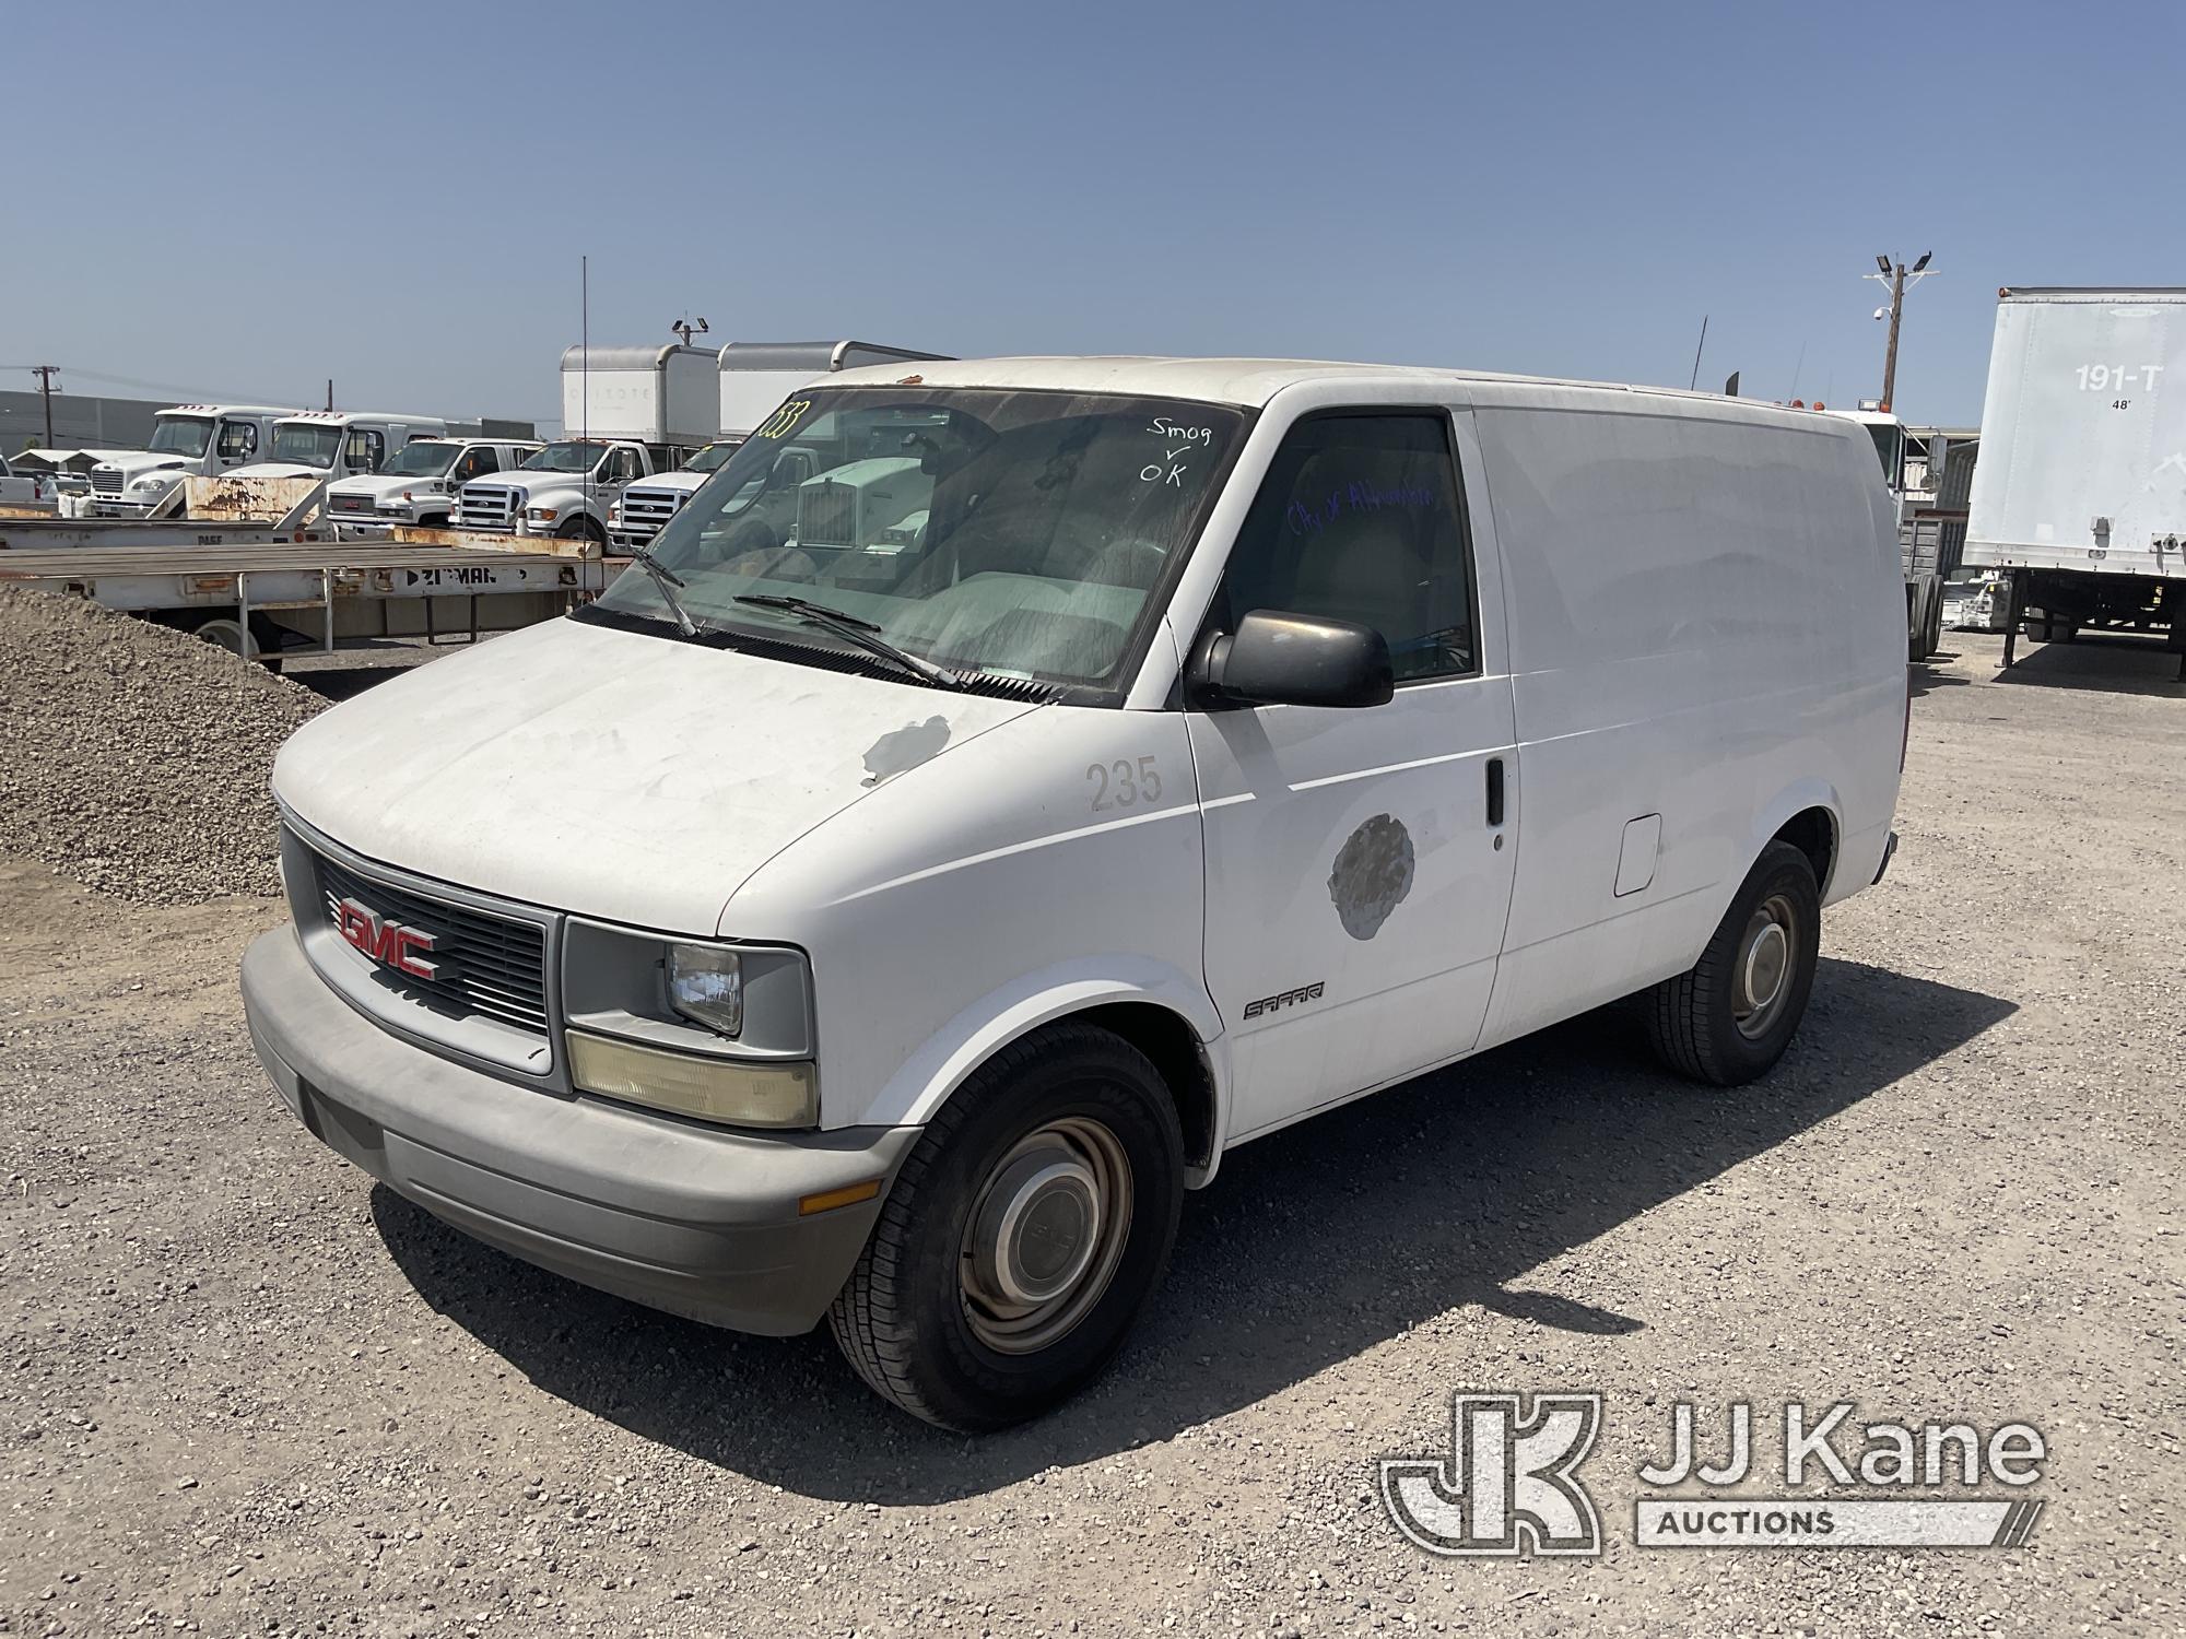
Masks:
[[[979,1187],[957,1261],[964,1318],[1003,1355],[1030,1355],[1100,1302],[1130,1237],[1130,1160],[1100,1121],[1025,1134]]]

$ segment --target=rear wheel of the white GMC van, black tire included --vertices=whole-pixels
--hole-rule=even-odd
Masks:
[[[1777,927],[1779,942],[1764,933],[1764,918]],[[1768,951],[1777,953],[1775,964]],[[1668,1069],[1709,1086],[1742,1086],[1766,1075],[1799,1029],[1819,955],[1814,865],[1790,844],[1771,841],[1701,959],[1648,994],[1655,1053]],[[1777,964],[1779,977],[1762,1003],[1755,979],[1764,981]]]

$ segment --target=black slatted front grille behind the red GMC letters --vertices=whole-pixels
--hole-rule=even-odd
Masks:
[[[446,1018],[492,1018],[546,1036],[546,933],[463,905],[367,881],[319,857],[319,898],[341,927],[341,900],[354,898],[383,920],[433,935],[431,979],[374,964],[372,977],[398,997]]]

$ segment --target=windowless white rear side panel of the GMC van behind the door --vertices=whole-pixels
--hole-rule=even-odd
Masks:
[[[1897,800],[1904,592],[1858,428],[1615,389],[1495,389],[1519,857],[1486,1040],[1690,968],[1762,844],[1825,806],[1825,894]],[[1624,826],[1661,815],[1618,896]]]

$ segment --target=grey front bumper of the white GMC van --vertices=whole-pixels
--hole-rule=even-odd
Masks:
[[[794,1335],[850,1276],[918,1128],[748,1134],[566,1097],[455,1064],[372,1025],[295,929],[243,957],[251,1045],[321,1143],[439,1219],[542,1270],[715,1326]]]

